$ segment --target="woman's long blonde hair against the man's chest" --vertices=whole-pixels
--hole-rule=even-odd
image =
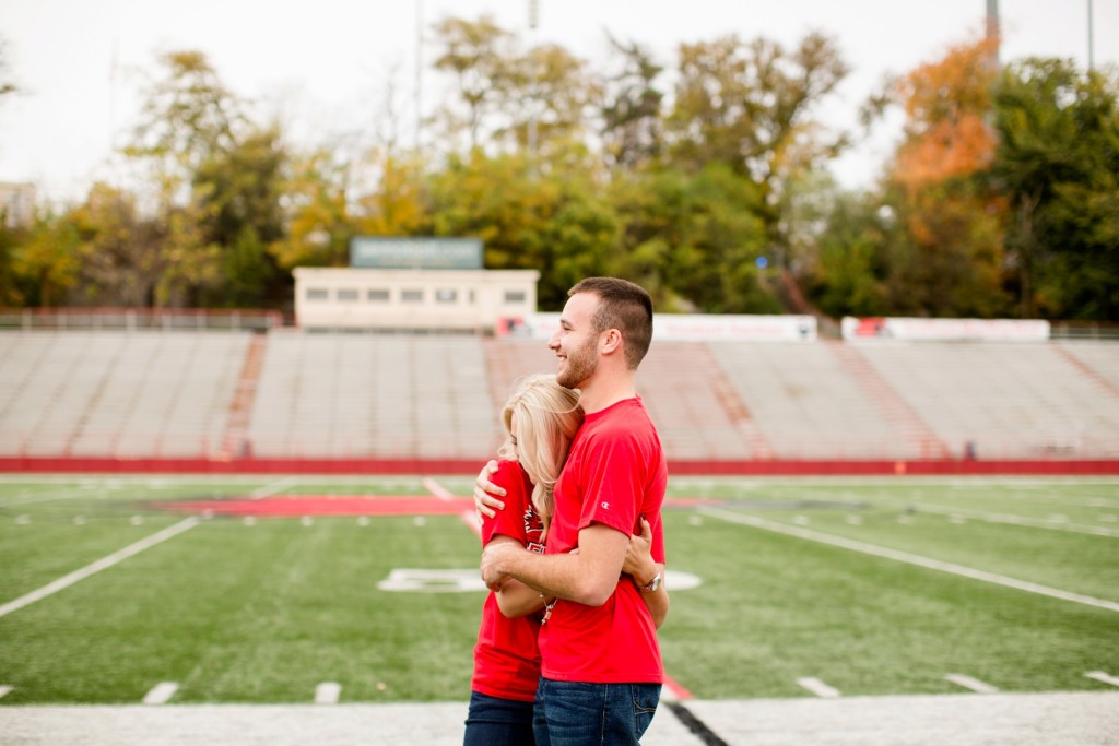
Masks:
[[[513,438],[513,418],[517,418],[517,438]],[[552,520],[555,489],[567,461],[572,438],[583,424],[579,393],[556,383],[554,375],[521,378],[501,409],[506,440],[498,456],[516,460],[533,482],[533,507],[547,532]]]

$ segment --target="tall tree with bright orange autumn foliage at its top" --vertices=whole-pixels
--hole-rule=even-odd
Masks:
[[[996,147],[988,124],[996,44],[952,47],[897,82],[905,126],[891,182],[908,240],[891,284],[904,312],[994,317],[1012,308],[1003,287],[1006,206],[982,178]]]

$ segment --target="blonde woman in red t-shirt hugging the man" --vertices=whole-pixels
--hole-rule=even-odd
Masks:
[[[506,509],[483,518],[482,546],[515,541],[529,551],[544,551],[552,519],[552,490],[572,438],[583,422],[579,394],[560,386],[553,375],[523,379],[501,410],[506,440],[498,450],[498,469],[490,478],[506,490]],[[660,568],[649,554],[648,523],[630,541],[623,570],[652,577]],[[667,613],[667,595],[649,596],[657,625]],[[552,598],[517,580],[508,580],[486,597],[474,645],[466,746],[533,744],[533,700],[540,676],[536,648],[543,612]]]

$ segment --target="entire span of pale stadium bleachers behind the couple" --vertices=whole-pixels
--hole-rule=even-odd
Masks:
[[[467,459],[543,340],[0,332],[0,456]],[[1119,457],[1119,344],[657,342],[669,459]]]

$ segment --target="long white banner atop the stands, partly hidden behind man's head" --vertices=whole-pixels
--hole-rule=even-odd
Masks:
[[[558,313],[533,313],[510,319],[506,333],[549,339],[560,328]],[[815,342],[816,318],[810,315],[707,315],[662,313],[653,317],[652,338],[661,341]]]

